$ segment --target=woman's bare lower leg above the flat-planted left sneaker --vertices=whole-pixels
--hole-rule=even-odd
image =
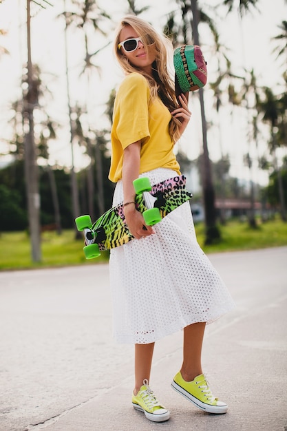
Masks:
[[[153,359],[154,343],[135,344],[135,388],[134,395],[138,393],[142,382],[151,375],[151,361]]]

